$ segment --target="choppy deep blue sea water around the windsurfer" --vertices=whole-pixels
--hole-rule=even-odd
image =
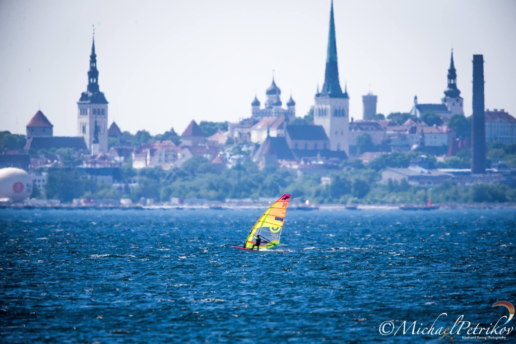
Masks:
[[[0,210],[0,341],[427,342],[379,326],[516,304],[514,210],[288,211],[289,252],[231,248],[261,213]]]

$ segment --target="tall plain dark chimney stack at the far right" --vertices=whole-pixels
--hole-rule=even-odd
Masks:
[[[486,173],[486,119],[484,114],[483,55],[473,55],[473,121],[471,174]]]

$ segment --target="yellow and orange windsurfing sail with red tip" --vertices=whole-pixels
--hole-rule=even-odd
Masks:
[[[284,194],[263,213],[251,229],[244,245],[245,248],[251,248],[256,243],[256,236],[258,235],[262,239],[260,249],[268,249],[280,244],[281,229],[285,221],[290,196]]]

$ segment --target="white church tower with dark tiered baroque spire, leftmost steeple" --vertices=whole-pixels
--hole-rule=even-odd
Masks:
[[[91,45],[88,88],[77,102],[77,134],[84,137],[86,146],[94,153],[107,153],[107,100],[99,89],[96,68],[95,36]],[[95,144],[95,145],[93,145]]]

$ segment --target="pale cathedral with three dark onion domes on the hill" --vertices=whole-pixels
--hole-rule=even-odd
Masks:
[[[251,114],[254,119],[261,119],[263,117],[281,117],[285,116],[285,120],[288,122],[290,119],[296,116],[296,102],[292,99],[287,101],[287,108],[282,108],[280,96],[281,89],[276,85],[274,76],[272,76],[272,84],[265,91],[267,100],[265,101],[265,107],[260,108],[260,101],[254,96],[254,100],[251,102]]]

